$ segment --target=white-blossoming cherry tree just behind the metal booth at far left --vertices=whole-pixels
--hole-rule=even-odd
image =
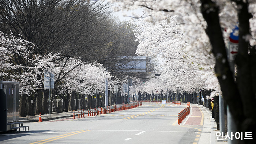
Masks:
[[[34,47],[36,46],[33,43],[16,38],[12,34],[4,35],[0,32],[0,79],[20,83],[20,115],[22,117],[26,116],[26,97],[37,95],[37,90],[42,89],[43,70],[51,67],[53,65],[51,61],[57,57],[51,53],[44,56],[33,54]],[[37,107],[41,106],[38,104]]]

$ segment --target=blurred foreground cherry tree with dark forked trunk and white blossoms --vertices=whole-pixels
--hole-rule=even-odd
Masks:
[[[255,116],[250,114],[255,111],[256,91],[254,75],[256,3],[254,0],[111,1],[117,3],[116,9],[119,10],[144,8],[146,12],[144,16],[134,17],[145,17],[146,21],[153,24],[162,20],[166,20],[169,25],[178,23],[177,29],[181,30],[184,41],[187,43],[185,49],[190,56],[194,57],[192,62],[196,61],[199,68],[203,70],[203,79],[206,80],[207,87],[223,95],[239,132],[255,133],[255,129],[252,129],[255,127]],[[177,21],[173,21],[173,18]],[[234,80],[234,74],[227,59],[226,45],[229,33],[235,25],[239,27],[237,31],[239,49],[234,61],[236,65]],[[172,45],[166,39],[165,42]],[[151,47],[151,45],[147,46]],[[167,48],[165,51],[169,50],[170,48]],[[165,51],[162,50],[161,53]],[[139,52],[143,53],[141,50]],[[169,55],[165,57],[168,58]],[[212,73],[213,68],[215,75]],[[253,143],[253,141],[246,143]]]

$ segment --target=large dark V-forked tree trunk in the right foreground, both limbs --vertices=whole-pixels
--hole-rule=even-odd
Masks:
[[[255,116],[255,49],[248,54],[249,43],[244,37],[249,35],[249,19],[247,1],[234,1],[240,8],[239,20],[239,49],[235,59],[237,64],[236,82],[227,62],[225,42],[219,24],[219,9],[211,0],[201,0],[201,11],[207,22],[206,33],[212,45],[215,56],[215,72],[221,86],[223,98],[230,108],[237,132],[252,132],[253,140],[240,140],[239,143],[256,143],[256,116]],[[209,7],[205,7],[208,5]],[[251,59],[252,58],[252,59]],[[235,133],[235,132],[233,132]]]

